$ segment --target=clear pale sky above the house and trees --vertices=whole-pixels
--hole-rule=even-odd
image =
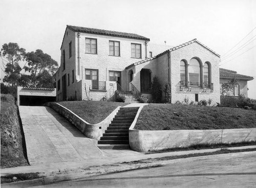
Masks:
[[[0,45],[41,49],[60,64],[67,25],[136,33],[173,46],[197,38],[221,55],[221,68],[254,77],[248,97],[256,99],[255,10],[255,0],[1,0]]]

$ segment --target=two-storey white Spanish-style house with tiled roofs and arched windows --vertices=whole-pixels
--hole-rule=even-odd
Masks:
[[[157,76],[162,89],[170,83],[172,103],[220,102],[220,55],[197,39],[172,47],[132,33],[67,26],[60,50],[57,101],[110,100],[117,90],[151,98]]]

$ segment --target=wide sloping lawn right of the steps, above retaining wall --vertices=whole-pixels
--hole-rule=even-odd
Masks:
[[[135,129],[240,129],[256,128],[256,111],[241,108],[181,104],[144,106]]]

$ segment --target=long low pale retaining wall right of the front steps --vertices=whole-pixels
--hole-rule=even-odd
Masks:
[[[256,140],[256,128],[217,130],[129,130],[131,149],[138,152],[195,144],[240,143]]]

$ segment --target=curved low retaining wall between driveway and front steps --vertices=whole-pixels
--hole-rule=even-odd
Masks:
[[[105,132],[106,128],[108,128],[109,124],[113,120],[114,116],[118,112],[119,107],[117,107],[108,117],[106,117],[105,120],[98,124],[90,124],[78,115],[76,115],[74,112],[69,110],[68,108],[65,108],[64,106],[58,104],[58,103],[46,103],[46,106],[51,107],[56,112],[64,116],[69,122],[71,122],[77,129],[79,129],[84,135],[86,135],[89,138],[93,138],[96,140],[99,140],[100,137]]]

